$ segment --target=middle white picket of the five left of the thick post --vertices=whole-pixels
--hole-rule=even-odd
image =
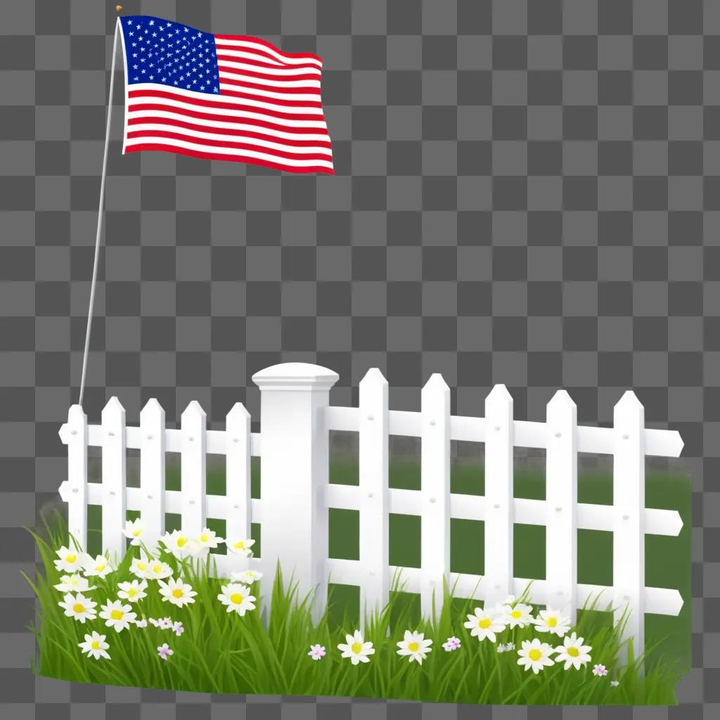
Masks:
[[[153,397],[140,411],[140,519],[150,550],[165,532],[165,451],[165,410]]]

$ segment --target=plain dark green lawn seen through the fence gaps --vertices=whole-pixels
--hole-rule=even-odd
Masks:
[[[259,459],[253,458],[251,495],[260,497]],[[330,464],[330,482],[356,485],[357,464],[338,461]],[[482,465],[456,463],[452,468],[451,492],[468,495],[484,493],[485,478]],[[659,644],[657,655],[677,657],[680,667],[690,667],[690,518],[691,492],[688,477],[678,474],[648,472],[646,505],[649,508],[678,510],[683,518],[683,530],[678,537],[652,536],[646,538],[646,585],[657,588],[675,588],[683,596],[683,610],[678,617],[646,616],[646,642]],[[169,464],[166,473],[168,490],[180,489],[179,466]],[[395,461],[390,467],[390,487],[408,490],[420,489],[420,467],[417,462]],[[207,491],[225,494],[225,469],[222,464],[208,464]],[[544,472],[516,470],[514,495],[516,498],[543,500],[545,497]],[[610,474],[582,474],[578,478],[578,500],[581,503],[612,504],[612,477]],[[128,512],[128,517],[138,513]],[[330,510],[330,557],[358,559],[359,513],[355,510]],[[179,527],[180,516],[168,513],[168,529]],[[483,573],[484,528],[481,521],[451,521],[451,570],[476,575]],[[208,520],[208,526],[225,536],[225,521]],[[99,506],[89,508],[89,527],[99,530]],[[253,524],[256,555],[261,554],[260,527]],[[514,575],[544,579],[545,528],[544,526],[515,526]],[[99,552],[99,534],[90,534],[90,549]],[[224,552],[220,548],[220,552]],[[595,585],[612,585],[613,535],[605,531],[578,531],[577,576],[579,582]],[[420,518],[390,515],[390,564],[400,567],[420,567]],[[331,585],[330,598],[341,612],[359,612],[357,588]],[[419,615],[417,596],[408,595],[407,601]],[[603,600],[604,601],[604,600]],[[598,622],[607,623],[607,613],[595,613]],[[652,658],[650,660],[652,662]]]

